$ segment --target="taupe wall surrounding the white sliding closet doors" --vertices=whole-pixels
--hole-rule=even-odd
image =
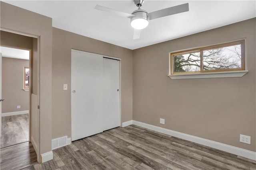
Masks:
[[[57,28],[52,35],[52,139],[71,137],[71,49],[122,59],[122,122],[132,120],[132,50]]]

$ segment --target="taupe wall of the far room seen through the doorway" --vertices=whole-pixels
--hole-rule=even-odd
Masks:
[[[2,113],[29,109],[29,92],[23,90],[24,66],[29,66],[29,60],[2,57]]]

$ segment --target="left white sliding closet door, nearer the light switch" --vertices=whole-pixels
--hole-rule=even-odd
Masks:
[[[103,57],[72,50],[72,141],[102,132]]]

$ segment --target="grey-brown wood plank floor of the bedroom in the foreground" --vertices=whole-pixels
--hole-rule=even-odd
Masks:
[[[130,125],[73,141],[71,145],[53,150],[53,160],[25,168],[106,169],[255,170],[256,164],[234,154]]]

